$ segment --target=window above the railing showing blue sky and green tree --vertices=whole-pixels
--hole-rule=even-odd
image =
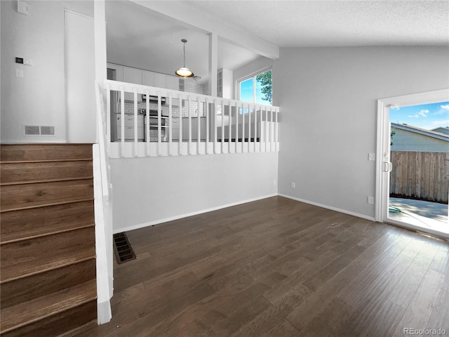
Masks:
[[[239,100],[272,105],[272,70],[239,81]]]

